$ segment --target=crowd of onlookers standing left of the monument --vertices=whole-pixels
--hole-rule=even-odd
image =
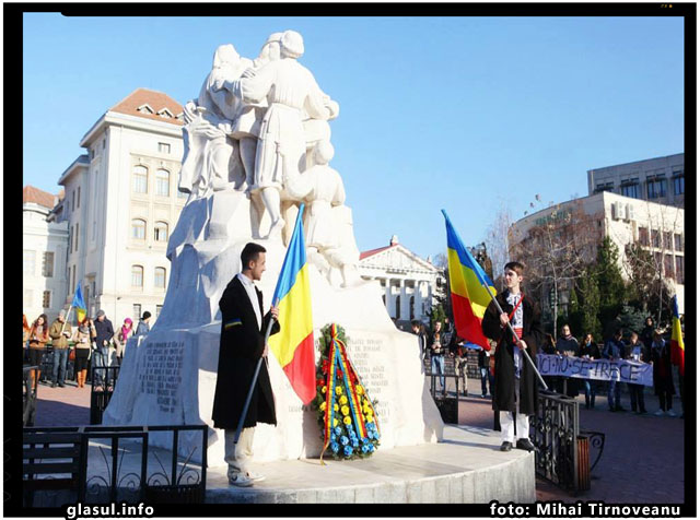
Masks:
[[[52,354],[50,378],[51,388],[65,387],[69,362],[73,363],[73,380],[77,388],[84,388],[91,367],[108,367],[121,365],[127,341],[131,336],[145,335],[150,331],[151,314],[143,312],[136,330],[133,320],[126,318],[122,326],[115,331],[112,321],[104,310],[98,310],[94,318],[84,316],[75,327],[67,320],[66,310],[49,324],[45,314],[39,315],[31,324],[26,315],[23,321],[23,361],[26,366],[36,366],[30,373],[32,386],[36,388],[42,377],[45,356]],[[102,389],[112,383],[105,370],[95,373],[91,382]]]

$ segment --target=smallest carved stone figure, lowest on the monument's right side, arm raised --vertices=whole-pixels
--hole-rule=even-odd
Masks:
[[[360,251],[352,231],[350,208],[343,205],[346,191],[337,170],[328,166],[334,156],[332,144],[319,141],[313,149],[314,165],[300,174],[293,157],[279,147],[283,157],[282,179],[287,193],[308,205],[306,212],[307,258],[332,282],[331,269],[342,275],[342,286],[359,282],[357,262]]]

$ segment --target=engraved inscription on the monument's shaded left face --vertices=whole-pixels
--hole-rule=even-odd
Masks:
[[[184,341],[147,343],[143,370],[139,375],[141,392],[155,395],[161,412],[179,409],[177,389],[183,381]]]

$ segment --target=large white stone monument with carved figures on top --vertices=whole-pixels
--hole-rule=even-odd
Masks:
[[[243,247],[256,241],[267,249],[267,271],[258,286],[265,308],[269,307],[289,229],[299,204],[305,202],[306,232],[308,226],[324,229],[323,235],[336,229],[342,237],[341,244],[308,244],[310,261],[319,257],[310,269],[316,341],[330,322],[345,328],[351,359],[370,397],[378,401],[381,450],[442,439],[443,422],[422,374],[416,338],[395,328],[378,282],[352,276],[359,251],[345,192],[329,198],[317,180],[328,175],[336,185],[341,182],[327,166],[332,154],[326,153],[320,163],[306,157],[318,143],[329,145],[327,121],[338,115],[338,104],[296,61],[303,50],[303,39],[293,31],[271,35],[255,62],[241,58],[233,46],[221,46],[200,97],[187,104],[179,189],[190,196],[167,245],[172,263],[167,294],[151,332],[127,344],[103,424],[212,425],[219,299],[241,270]],[[247,118],[246,128],[258,130],[242,134],[238,118]],[[264,138],[253,140],[256,134]],[[254,163],[252,142],[257,142]],[[307,169],[310,177],[304,179]],[[284,179],[290,178],[294,186],[288,190]],[[308,233],[305,236],[308,239]],[[322,432],[316,411],[302,405],[277,359],[268,359],[278,425],[257,426],[254,460],[318,457]],[[151,434],[151,442],[168,446],[164,435]],[[197,442],[195,434],[180,434],[180,453],[189,456]],[[213,427],[208,461],[224,464],[223,430]]]

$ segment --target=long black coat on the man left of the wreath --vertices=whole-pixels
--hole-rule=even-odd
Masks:
[[[255,292],[262,315],[262,293],[257,287]],[[255,367],[265,350],[265,332],[271,315],[264,315],[262,327],[258,328],[250,298],[237,277],[226,285],[219,300],[219,308],[221,342],[212,418],[215,428],[235,429],[243,413]],[[279,330],[279,323],[275,322],[271,334]],[[260,366],[243,427],[249,428],[256,423],[277,424],[267,359],[264,359]]]

